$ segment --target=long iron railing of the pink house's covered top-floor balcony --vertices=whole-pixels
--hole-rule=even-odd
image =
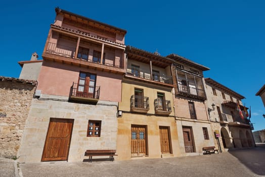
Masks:
[[[67,58],[74,58],[75,49],[76,48],[71,48],[68,46],[58,45],[57,43],[48,42],[46,53],[67,57]],[[93,57],[89,57],[88,54],[86,57],[87,58],[77,58],[77,59],[101,64],[100,59],[95,60],[93,59]],[[123,60],[120,58],[109,58],[109,57],[104,58],[102,64],[116,68],[123,68]]]

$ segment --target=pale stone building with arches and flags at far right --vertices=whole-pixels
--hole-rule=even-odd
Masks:
[[[215,146],[223,150],[254,147],[251,132],[253,126],[244,114],[241,101],[245,97],[211,78],[204,80],[207,95],[206,106],[212,126],[211,134],[217,130],[220,135],[220,138],[216,137]],[[243,118],[239,115],[237,103],[243,112]]]

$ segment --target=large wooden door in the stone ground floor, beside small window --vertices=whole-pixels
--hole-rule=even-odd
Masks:
[[[73,121],[73,119],[50,119],[41,161],[68,160]]]

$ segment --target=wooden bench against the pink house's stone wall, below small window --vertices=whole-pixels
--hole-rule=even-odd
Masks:
[[[86,150],[85,156],[89,156],[89,161],[92,162],[93,156],[110,156],[110,160],[113,161],[114,157],[117,156],[116,150]]]

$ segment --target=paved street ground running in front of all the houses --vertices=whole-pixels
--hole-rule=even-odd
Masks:
[[[13,168],[12,168],[13,165]],[[2,168],[4,166],[4,168]],[[7,167],[10,166],[10,167]],[[232,150],[203,156],[89,162],[20,163],[20,176],[260,176],[265,149]],[[6,172],[9,170],[11,172]],[[2,163],[0,176],[15,176],[14,162]],[[4,172],[4,173],[2,173]],[[4,175],[3,175],[4,174]]]

